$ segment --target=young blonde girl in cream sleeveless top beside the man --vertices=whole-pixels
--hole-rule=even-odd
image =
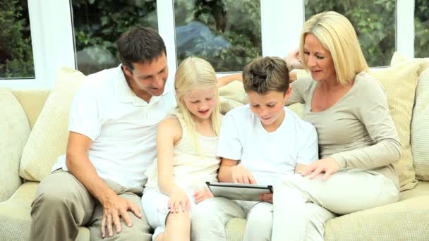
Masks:
[[[178,109],[159,123],[157,160],[147,169],[143,211],[152,240],[190,240],[192,206],[212,197],[206,181],[217,181],[220,112],[214,69],[186,58],[176,71]]]

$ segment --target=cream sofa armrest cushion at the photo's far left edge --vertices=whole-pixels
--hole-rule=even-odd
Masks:
[[[3,202],[21,185],[19,161],[30,125],[23,107],[6,89],[0,89],[0,113],[0,202]]]

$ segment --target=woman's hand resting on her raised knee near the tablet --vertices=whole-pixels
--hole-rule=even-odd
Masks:
[[[332,157],[320,159],[318,161],[315,161],[313,163],[310,163],[308,166],[303,168],[300,173],[303,176],[310,175],[310,178],[315,178],[316,175],[319,175],[320,173],[325,173],[323,175],[323,180],[327,180],[327,178],[330,177],[330,175],[336,173],[339,170],[339,165],[335,159]]]

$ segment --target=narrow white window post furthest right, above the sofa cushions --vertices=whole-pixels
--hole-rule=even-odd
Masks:
[[[414,0],[397,0],[397,51],[414,58]]]

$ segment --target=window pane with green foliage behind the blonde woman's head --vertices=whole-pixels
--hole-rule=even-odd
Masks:
[[[388,66],[396,45],[396,1],[305,0],[306,19],[336,11],[349,18],[369,66]]]

